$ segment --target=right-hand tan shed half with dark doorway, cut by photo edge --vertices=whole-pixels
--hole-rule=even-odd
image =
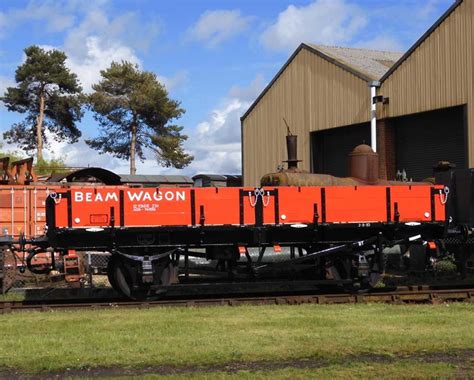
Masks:
[[[473,78],[474,0],[458,0],[381,78],[388,171],[421,179],[438,160],[474,167]]]

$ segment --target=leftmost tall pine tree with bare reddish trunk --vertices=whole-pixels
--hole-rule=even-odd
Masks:
[[[66,54],[38,46],[25,49],[26,60],[15,73],[16,87],[8,87],[0,100],[9,111],[26,114],[3,137],[43,159],[48,145],[46,130],[58,141],[74,143],[81,136],[76,123],[82,118],[82,88],[65,65]]]

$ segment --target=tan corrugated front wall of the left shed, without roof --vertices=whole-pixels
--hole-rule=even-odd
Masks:
[[[310,132],[369,120],[367,82],[302,49],[243,121],[245,186],[286,160],[285,118],[310,169]]]

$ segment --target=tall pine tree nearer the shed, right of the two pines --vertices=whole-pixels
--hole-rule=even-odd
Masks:
[[[183,127],[170,124],[185,111],[178,101],[169,99],[156,75],[124,61],[113,62],[101,75],[89,97],[101,132],[87,144],[100,153],[130,160],[130,174],[136,173],[136,156],[145,158],[145,148],[155,152],[162,166],[189,165],[193,157],[182,147],[187,139],[181,134]]]

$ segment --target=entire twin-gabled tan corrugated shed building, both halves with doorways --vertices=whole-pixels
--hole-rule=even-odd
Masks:
[[[458,0],[404,54],[301,44],[241,118],[244,184],[285,160],[283,118],[303,169],[344,175],[349,146],[370,143],[374,80],[382,178],[474,167],[473,20],[474,0]]]

